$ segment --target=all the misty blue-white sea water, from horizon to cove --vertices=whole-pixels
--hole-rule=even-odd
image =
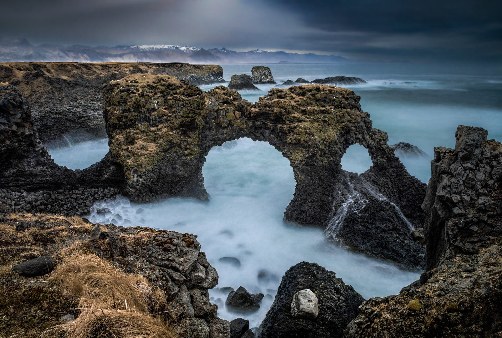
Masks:
[[[224,78],[251,74],[257,64],[222,65]],[[435,146],[453,148],[458,125],[482,127],[488,138],[502,141],[502,71],[483,67],[426,65],[326,65],[265,64],[276,82],[303,77],[357,76],[367,83],[347,86],[361,96],[361,108],[370,113],[373,128],[388,133],[389,144],[408,142],[428,156],[401,158],[410,174],[423,182],[430,177]],[[224,83],[228,84],[228,82]],[[215,84],[216,85],[216,84]],[[202,86],[209,90],[215,85]],[[242,92],[249,101],[267,94]],[[106,141],[87,141],[50,151],[56,163],[83,169],[107,152]],[[226,296],[210,290],[218,315],[227,320],[243,317],[250,327],[259,325],[270,308],[286,270],[302,261],[315,262],[350,284],[364,298],[396,294],[418,279],[420,272],[403,271],[392,263],[353,253],[325,240],[321,229],[287,226],[283,212],[293,197],[295,180],[289,161],[266,142],[239,139],[213,148],[203,167],[209,202],[173,198],[148,204],[131,203],[126,197],[98,202],[106,215],[92,212],[93,222],[141,225],[198,236],[202,251],[219,274],[217,288],[245,287],[249,292],[269,294],[257,313],[228,313]],[[361,173],[371,165],[367,151],[353,145],[342,158],[342,168]],[[145,212],[137,213],[139,208]],[[119,214],[123,219],[116,220]],[[116,217],[116,219],[114,219]],[[235,257],[235,267],[220,262]],[[259,273],[267,278],[258,278]]]

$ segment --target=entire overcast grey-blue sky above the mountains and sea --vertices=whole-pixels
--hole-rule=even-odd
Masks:
[[[501,1],[16,0],[0,36],[32,44],[176,44],[363,60],[502,61]]]

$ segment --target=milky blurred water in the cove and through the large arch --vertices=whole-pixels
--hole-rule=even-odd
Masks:
[[[419,278],[417,272],[402,271],[329,243],[321,229],[285,225],[283,213],[295,191],[293,169],[268,143],[240,139],[233,147],[224,144],[213,148],[206,158],[202,173],[211,195],[209,202],[174,198],[136,204],[120,197],[97,203],[96,209],[107,207],[111,212],[92,212],[89,219],[198,235],[201,250],[218,271],[218,288],[243,286],[249,292],[274,297],[286,270],[303,261],[334,271],[364,298],[397,294]],[[145,211],[137,213],[139,208]],[[221,257],[237,258],[241,266],[222,263]],[[269,280],[258,278],[262,270],[269,272]],[[209,295],[213,303],[217,298],[226,299],[217,289]],[[250,325],[258,325],[272,297],[264,298],[259,312],[250,315],[228,313],[220,303],[218,316],[227,320],[242,317]]]

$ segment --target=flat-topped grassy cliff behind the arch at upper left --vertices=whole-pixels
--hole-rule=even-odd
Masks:
[[[176,76],[194,84],[221,83],[217,65],[188,63],[10,62],[0,64],[0,81],[30,100],[34,124],[44,144],[106,137],[102,117],[103,83],[128,74]]]

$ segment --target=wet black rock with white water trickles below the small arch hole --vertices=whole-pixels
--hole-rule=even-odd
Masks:
[[[412,237],[413,224],[362,175],[344,174],[345,180],[337,189],[340,206],[328,223],[326,235],[355,251],[392,260],[408,269],[424,269],[425,249]]]

